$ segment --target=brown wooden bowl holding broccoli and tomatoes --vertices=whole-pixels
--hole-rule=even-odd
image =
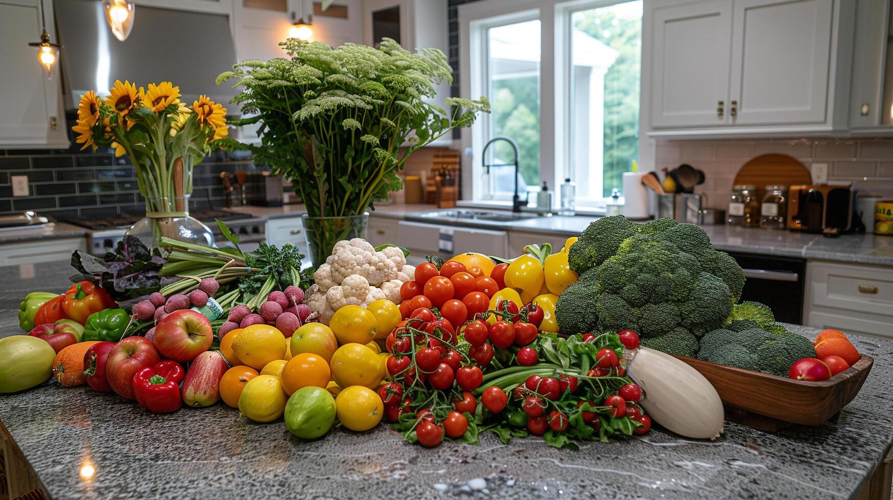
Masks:
[[[727,421],[776,431],[789,423],[821,425],[853,400],[872,370],[863,355],[845,371],[821,382],[786,379],[759,371],[675,356],[704,375],[725,406]]]

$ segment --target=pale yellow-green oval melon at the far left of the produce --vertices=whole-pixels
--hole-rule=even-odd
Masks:
[[[0,393],[17,392],[46,382],[55,351],[46,340],[27,335],[0,338]]]

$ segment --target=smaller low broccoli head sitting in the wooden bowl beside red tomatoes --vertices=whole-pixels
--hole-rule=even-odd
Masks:
[[[738,326],[743,326],[741,321]],[[715,329],[701,337],[697,359],[787,377],[791,365],[815,357],[813,343],[794,333]]]

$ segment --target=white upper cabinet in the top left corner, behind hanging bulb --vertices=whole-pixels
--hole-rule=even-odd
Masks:
[[[38,64],[42,5],[38,0],[0,0],[0,149],[69,146],[62,107],[60,64],[52,78]],[[50,41],[58,42],[52,9],[46,11]],[[64,47],[60,58],[65,57]]]

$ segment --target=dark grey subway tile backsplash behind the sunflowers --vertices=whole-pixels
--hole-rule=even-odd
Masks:
[[[69,140],[68,149],[0,149],[0,213],[31,210],[64,219],[145,212],[128,156],[116,159],[110,149],[80,151],[71,131]],[[255,170],[263,169],[250,158],[210,155],[193,170],[190,208],[223,207],[221,171]],[[29,196],[13,196],[14,175],[28,177]]]

